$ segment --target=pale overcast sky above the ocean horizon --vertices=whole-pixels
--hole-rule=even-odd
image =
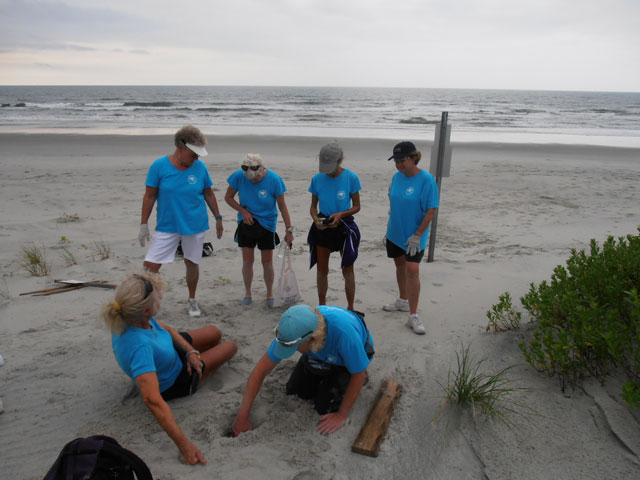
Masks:
[[[640,91],[640,0],[0,0],[0,85]]]

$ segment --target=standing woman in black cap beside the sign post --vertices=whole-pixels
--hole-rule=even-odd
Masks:
[[[398,170],[389,186],[389,221],[385,244],[387,257],[396,265],[399,296],[384,305],[386,311],[409,312],[407,326],[424,335],[418,317],[420,299],[420,262],[429,237],[429,224],[438,209],[438,186],[429,172],[418,167],[422,154],[411,142],[400,142],[393,148]]]

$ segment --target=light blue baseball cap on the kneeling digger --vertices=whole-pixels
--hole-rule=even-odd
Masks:
[[[280,317],[274,330],[276,346],[274,354],[282,359],[291,357],[298,345],[307,340],[318,328],[318,315],[309,305],[294,305]]]

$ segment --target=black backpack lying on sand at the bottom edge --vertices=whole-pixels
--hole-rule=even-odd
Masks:
[[[135,473],[135,477],[134,477]],[[147,465],[106,435],[67,443],[44,480],[153,480]]]

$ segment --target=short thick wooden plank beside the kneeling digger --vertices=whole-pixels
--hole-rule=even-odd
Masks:
[[[351,446],[352,452],[370,457],[378,456],[401,393],[402,386],[392,378],[382,381],[369,415]]]

